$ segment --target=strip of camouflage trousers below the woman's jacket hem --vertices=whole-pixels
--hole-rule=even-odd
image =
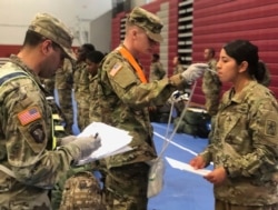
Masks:
[[[265,206],[238,206],[216,200],[216,210],[278,210],[278,203]]]

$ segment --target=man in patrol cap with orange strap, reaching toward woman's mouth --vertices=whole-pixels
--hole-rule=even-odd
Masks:
[[[207,64],[195,64],[185,74],[148,83],[138,59],[142,53],[152,53],[152,48],[162,41],[162,26],[153,13],[135,8],[127,18],[123,43],[99,68],[101,120],[133,137],[131,151],[106,159],[105,191],[109,210],[147,209],[147,162],[157,157],[148,107],[163,104],[183,80],[199,78],[207,68]]]

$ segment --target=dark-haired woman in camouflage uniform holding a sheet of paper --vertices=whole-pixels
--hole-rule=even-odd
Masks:
[[[278,104],[262,86],[265,66],[258,48],[235,40],[221,49],[217,73],[231,82],[219,104],[211,143],[190,161],[215,184],[216,210],[278,209]]]

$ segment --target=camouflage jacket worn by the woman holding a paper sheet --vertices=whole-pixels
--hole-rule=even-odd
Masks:
[[[278,104],[269,89],[249,82],[239,94],[224,94],[212,139],[201,153],[228,178],[215,186],[216,199],[244,206],[278,202]]]

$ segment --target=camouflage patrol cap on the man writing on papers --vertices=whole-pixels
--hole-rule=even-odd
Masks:
[[[49,13],[37,13],[28,29],[52,40],[70,59],[76,60],[76,54],[71,49],[73,37],[59,19]]]

